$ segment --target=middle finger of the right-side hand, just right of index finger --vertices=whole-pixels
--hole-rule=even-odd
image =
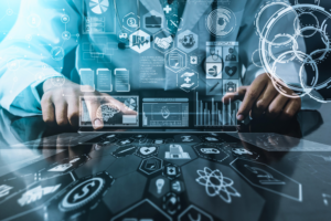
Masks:
[[[268,84],[265,91],[259,95],[257,102],[252,108],[252,118],[260,118],[269,107],[273,99],[277,96],[278,92],[273,84]]]

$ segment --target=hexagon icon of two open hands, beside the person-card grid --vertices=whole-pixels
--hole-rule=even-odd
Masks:
[[[199,73],[194,71],[185,71],[177,75],[178,87],[184,92],[192,92],[199,87]]]

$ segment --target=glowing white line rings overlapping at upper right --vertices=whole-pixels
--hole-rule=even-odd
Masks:
[[[298,3],[298,1],[297,1]],[[319,3],[319,1],[316,1]],[[259,19],[260,14],[268,9],[270,6],[284,6],[280,10],[275,12],[264,28],[260,31],[259,28]],[[280,19],[291,15],[290,13],[295,12],[296,17],[293,18],[293,33],[292,34],[285,34],[278,33],[275,34],[275,30]],[[302,15],[309,15],[311,18],[310,21],[313,24],[302,24],[299,22]],[[324,18],[322,18],[324,17]],[[319,18],[323,19],[322,22],[318,20]],[[266,73],[268,73],[269,77],[273,81],[275,88],[285,96],[288,97],[302,97],[305,95],[309,95],[310,97],[317,99],[318,102],[325,102],[321,96],[313,95],[316,91],[323,90],[329,85],[331,82],[331,76],[328,76],[328,80],[320,80],[323,82],[319,82],[319,64],[324,62],[328,57],[328,53],[330,53],[330,38],[328,36],[327,25],[328,22],[331,20],[331,14],[327,12],[323,8],[316,6],[316,4],[296,4],[293,7],[287,6],[285,2],[271,2],[266,4],[261,8],[261,11],[258,12],[256,17],[256,29],[257,33],[260,38],[259,41],[259,55],[261,60],[263,67],[265,69]],[[275,29],[276,28],[276,29]],[[306,33],[308,32],[308,33]],[[273,33],[273,34],[271,34]],[[303,42],[303,39],[311,38],[317,33],[320,34],[320,39],[322,43],[325,45],[324,49],[317,49],[312,52],[302,52],[299,51],[300,42]],[[280,38],[287,38],[285,42],[279,43]],[[316,35],[317,36],[317,35]],[[299,40],[300,38],[300,40]],[[308,40],[306,40],[308,41]],[[308,42],[309,43],[309,42]],[[291,46],[290,46],[291,44]],[[278,53],[273,52],[273,46],[278,48]],[[288,49],[286,49],[288,46]],[[280,48],[284,48],[281,51]],[[280,50],[279,50],[280,49]],[[279,53],[279,51],[281,51]],[[254,52],[256,53],[256,52]],[[280,55],[279,55],[280,54]],[[270,62],[270,56],[273,62]],[[292,64],[291,64],[292,63]],[[280,64],[288,64],[298,66],[298,75],[297,82],[289,82],[284,81],[284,78],[277,73],[279,70],[278,66]],[[306,72],[306,67],[310,67],[311,72]],[[278,71],[279,72],[279,71]],[[285,78],[295,78],[296,76],[286,76]],[[308,83],[309,82],[309,83]]]

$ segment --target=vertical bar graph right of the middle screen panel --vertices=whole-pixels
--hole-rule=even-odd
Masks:
[[[195,105],[195,126],[197,127],[237,125],[238,102],[229,102],[229,104],[224,105],[221,99],[215,101],[214,97],[211,101],[202,101],[199,99],[196,92]]]

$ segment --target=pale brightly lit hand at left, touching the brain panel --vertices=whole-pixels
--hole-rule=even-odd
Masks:
[[[113,98],[108,94],[99,92],[81,92],[81,85],[66,80],[62,87],[53,86],[52,78],[49,78],[43,84],[44,94],[41,101],[43,113],[43,120],[50,125],[72,125],[78,126],[79,122],[79,97],[81,96],[104,96],[107,103],[114,104],[125,115],[137,115],[137,112],[131,110],[125,104]],[[93,90],[89,90],[93,91]],[[99,99],[94,98],[87,105],[89,117],[94,129],[102,129],[104,127],[103,118],[98,118],[97,109],[102,103]]]

